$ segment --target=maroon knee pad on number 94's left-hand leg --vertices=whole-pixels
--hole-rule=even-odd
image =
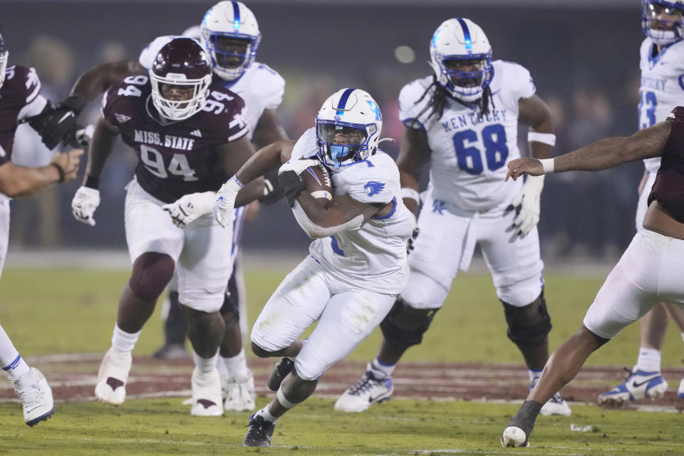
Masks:
[[[133,262],[128,286],[145,301],[156,301],[173,276],[174,261],[167,254],[145,252]]]

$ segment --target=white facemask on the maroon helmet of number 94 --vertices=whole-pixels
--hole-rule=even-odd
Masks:
[[[182,73],[167,73],[158,76],[150,71],[152,83],[152,103],[160,114],[169,120],[185,120],[202,110],[209,95],[209,84],[212,76],[208,74],[199,79],[187,79]],[[174,90],[175,89],[175,90]],[[192,95],[172,98],[173,93],[186,93],[192,89]]]

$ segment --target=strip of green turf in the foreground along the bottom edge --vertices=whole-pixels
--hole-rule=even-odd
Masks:
[[[279,421],[274,448],[241,446],[248,413],[191,417],[179,398],[59,404],[46,423],[21,423],[16,404],[1,404],[2,454],[26,455],[680,455],[681,416],[576,406],[571,418],[539,417],[532,447],[508,449],[500,433],[509,404],[390,400],[363,414],[335,412],[310,398]],[[260,398],[257,405],[263,406]],[[13,415],[13,416],[12,416]],[[589,432],[570,426],[591,425]],[[48,450],[49,449],[49,450]]]

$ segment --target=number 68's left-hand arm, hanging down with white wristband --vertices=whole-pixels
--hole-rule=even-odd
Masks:
[[[404,126],[401,133],[401,144],[397,167],[399,168],[399,182],[401,197],[404,205],[418,217],[420,196],[418,186],[420,171],[430,162],[430,145],[427,143],[425,130],[417,130]]]

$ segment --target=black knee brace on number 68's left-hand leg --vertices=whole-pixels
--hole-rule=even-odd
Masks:
[[[440,309],[413,309],[401,298],[380,322],[380,329],[388,342],[410,347],[423,342],[423,333]]]

